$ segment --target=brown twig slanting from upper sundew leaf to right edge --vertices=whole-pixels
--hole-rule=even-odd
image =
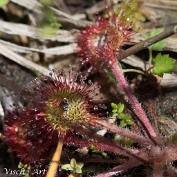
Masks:
[[[150,45],[152,45],[158,41],[161,41],[162,39],[165,39],[175,33],[177,33],[177,25],[169,27],[169,28],[165,29],[164,32],[162,32],[152,38],[149,38],[145,41],[142,41],[142,42],[134,45],[133,47],[130,47],[129,49],[122,52],[122,55],[119,55],[117,57],[117,59],[122,60],[122,59],[124,59],[132,54],[135,54],[135,53],[149,47]]]

